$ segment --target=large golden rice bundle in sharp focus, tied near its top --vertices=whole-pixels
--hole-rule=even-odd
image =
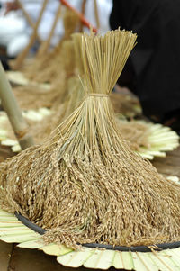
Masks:
[[[109,99],[136,35],[84,34],[85,99],[46,144],[1,164],[1,206],[48,242],[152,245],[180,239],[180,189],[121,139]]]

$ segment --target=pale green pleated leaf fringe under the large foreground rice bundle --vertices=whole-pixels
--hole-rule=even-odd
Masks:
[[[73,251],[63,245],[46,245],[40,234],[29,229],[13,213],[0,210],[0,239],[18,243],[19,248],[36,248],[57,256],[63,266],[108,269],[111,266],[125,270],[180,270],[180,248],[152,252],[124,252],[108,249],[82,248]]]

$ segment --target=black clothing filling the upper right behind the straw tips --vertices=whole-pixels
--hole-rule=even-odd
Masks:
[[[138,34],[122,85],[139,96],[144,113],[180,110],[180,0],[113,0],[110,23]]]

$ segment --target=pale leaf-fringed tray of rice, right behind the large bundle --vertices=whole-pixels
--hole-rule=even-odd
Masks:
[[[144,134],[140,131],[141,125],[143,129],[146,128]],[[125,140],[133,143],[133,137],[139,136],[139,142],[135,140],[137,144],[139,143],[138,149],[135,146],[134,150],[138,151],[143,158],[166,157],[166,151],[171,151],[179,146],[179,136],[176,132],[161,124],[145,121],[121,121],[120,126],[122,137]],[[143,143],[143,138],[147,142]]]

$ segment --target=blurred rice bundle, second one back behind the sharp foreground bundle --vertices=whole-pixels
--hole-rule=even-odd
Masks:
[[[61,66],[56,69],[57,77],[60,76],[50,89],[33,85],[14,87],[14,95],[23,110],[56,107],[67,100],[67,80],[75,74],[74,55],[74,42],[64,41],[60,55]]]

